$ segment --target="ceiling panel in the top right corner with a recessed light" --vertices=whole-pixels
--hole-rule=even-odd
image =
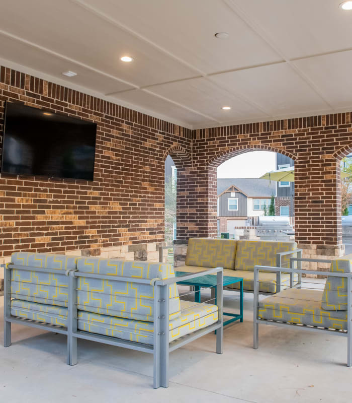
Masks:
[[[352,47],[352,12],[342,0],[228,0],[288,58]]]

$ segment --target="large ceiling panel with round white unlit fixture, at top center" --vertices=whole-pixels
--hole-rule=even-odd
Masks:
[[[281,60],[221,0],[79,0],[206,74]],[[217,39],[216,32],[229,38]]]

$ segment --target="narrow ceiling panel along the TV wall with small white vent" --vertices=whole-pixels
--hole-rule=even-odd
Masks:
[[[66,80],[68,87],[70,84],[75,84],[102,94],[133,88],[123,82],[106,77],[76,63],[63,60],[60,57],[53,56],[1,34],[0,49],[0,56],[2,58],[15,63],[25,64],[30,69],[41,71],[60,80]],[[62,72],[67,70],[77,73],[77,76],[71,78],[63,76]]]

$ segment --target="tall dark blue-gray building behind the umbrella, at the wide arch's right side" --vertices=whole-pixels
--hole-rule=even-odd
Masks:
[[[294,161],[283,154],[276,154],[276,169],[293,167]],[[289,216],[295,215],[294,197],[295,184],[294,182],[275,182],[276,183],[276,198],[275,198],[275,215]]]

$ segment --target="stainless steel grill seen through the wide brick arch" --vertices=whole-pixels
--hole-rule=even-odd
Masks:
[[[289,241],[294,235],[289,217],[260,216],[255,235],[263,241]]]

